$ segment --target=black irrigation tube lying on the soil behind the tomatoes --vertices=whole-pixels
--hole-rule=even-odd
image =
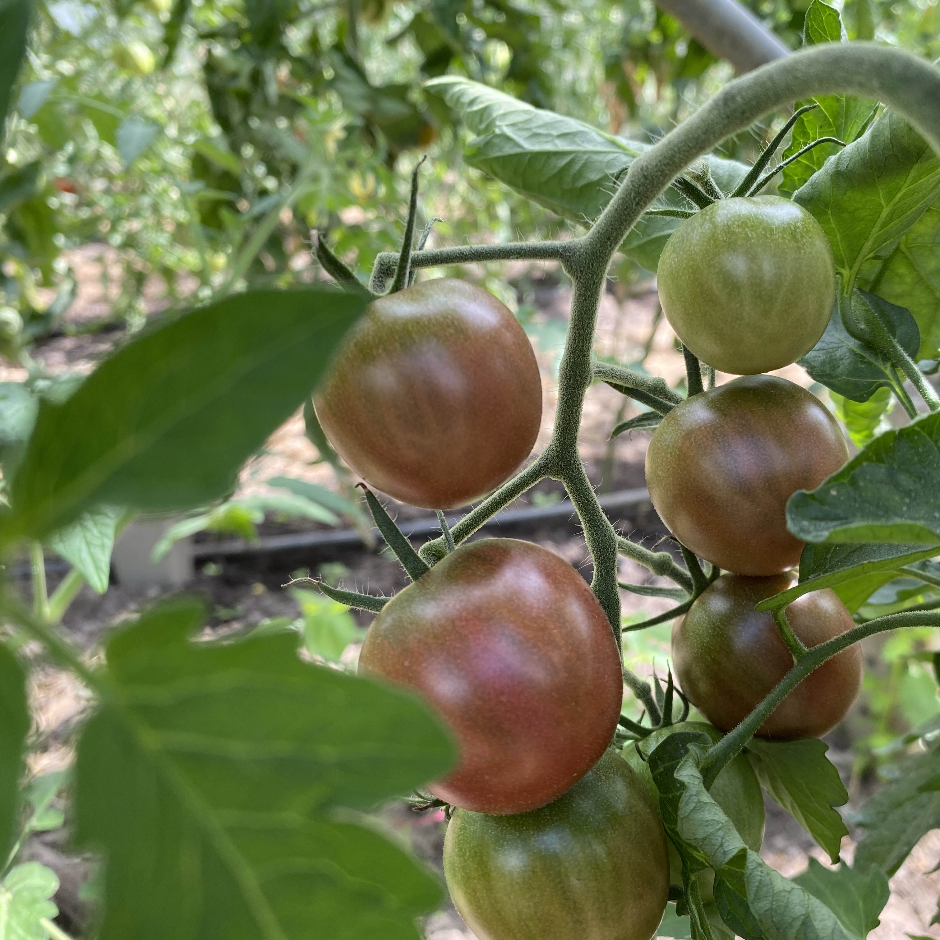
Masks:
[[[650,493],[646,487],[635,490],[619,490],[616,493],[604,493],[598,497],[603,509],[615,509],[625,506],[640,506],[650,502]],[[530,506],[525,509],[504,509],[488,520],[482,528],[499,525],[525,525],[544,519],[556,519],[571,516],[574,507],[570,499],[565,499],[554,506]],[[447,515],[447,525],[455,525],[460,514]],[[399,523],[399,528],[407,536],[431,535],[441,530],[436,516],[415,519]],[[373,529],[378,536],[378,529]],[[255,541],[229,539],[227,541],[200,541],[193,545],[193,557],[214,558],[233,555],[257,555],[265,552],[278,552],[290,548],[314,548],[327,545],[365,545],[362,533],[357,529],[335,529],[329,532],[294,532],[290,535],[261,536]]]

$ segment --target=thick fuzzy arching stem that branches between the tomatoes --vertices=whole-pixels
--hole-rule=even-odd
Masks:
[[[620,602],[617,555],[626,548],[626,540],[619,538],[603,514],[577,447],[585,393],[596,374],[591,363],[591,349],[607,268],[620,243],[656,197],[699,157],[713,150],[730,134],[744,130],[755,120],[782,105],[797,99],[839,92],[885,102],[907,118],[930,142],[932,148],[940,153],[940,71],[914,55],[874,43],[821,44],[776,59],[730,82],[691,118],[636,157],[614,197],[583,237],[555,243],[521,242],[436,248],[415,252],[412,257],[415,268],[509,259],[556,260],[561,262],[572,278],[571,320],[558,369],[558,404],[552,440],[540,457],[519,476],[509,480],[464,516],[454,526],[452,536],[459,544],[495,512],[541,478],[559,479],[568,491],[584,528],[587,547],[594,562],[591,587],[610,620],[618,644]],[[397,260],[397,256],[391,253],[379,255],[372,273],[371,290],[382,292],[385,289]],[[420,552],[421,557],[429,562],[445,554],[443,537],[431,540]],[[636,549],[627,549],[625,554],[636,557],[641,553]],[[643,563],[651,560],[645,558]],[[661,563],[659,558],[655,560]],[[685,587],[689,576],[675,563],[673,566],[675,571],[670,568],[664,573]],[[899,616],[901,622],[898,625],[905,625],[907,621],[904,616]],[[940,615],[932,616],[940,618]],[[804,655],[793,666],[781,687],[791,682],[789,690],[815,665],[823,662],[824,653],[817,650],[823,648],[816,648]],[[648,709],[652,704],[650,713],[657,713],[649,683],[635,677],[629,670],[625,672],[624,679]],[[776,691],[767,699],[768,702],[774,698]],[[776,701],[769,707],[759,707],[756,714],[762,715],[760,721],[773,710]],[[754,729],[760,726],[760,721],[754,725]],[[750,733],[747,733],[747,737]],[[725,740],[729,739],[738,741],[733,735]],[[726,747],[735,746],[740,750],[744,740],[746,738]]]

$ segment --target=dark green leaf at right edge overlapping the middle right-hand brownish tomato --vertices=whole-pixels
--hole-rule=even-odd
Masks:
[[[885,431],[811,493],[787,502],[806,541],[940,542],[940,412]],[[935,554],[935,553],[934,553]]]

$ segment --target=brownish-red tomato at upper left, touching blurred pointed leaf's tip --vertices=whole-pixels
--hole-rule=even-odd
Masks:
[[[368,305],[314,405],[330,443],[371,486],[453,509],[504,482],[531,451],[539,365],[508,307],[440,278]]]

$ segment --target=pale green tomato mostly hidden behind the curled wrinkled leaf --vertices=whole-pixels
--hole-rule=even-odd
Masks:
[[[659,799],[659,793],[652,782],[650,768],[643,758],[649,757],[659,744],[677,731],[703,731],[714,742],[721,740],[721,731],[713,725],[703,721],[683,721],[678,725],[655,730],[648,738],[636,744],[626,744],[621,752],[623,759],[642,777],[656,800]],[[637,748],[642,753],[642,758],[636,753]],[[744,754],[739,754],[731,760],[715,777],[709,793],[714,802],[725,810],[725,815],[731,823],[734,823],[734,828],[738,830],[738,835],[743,839],[744,845],[754,852],[760,852],[760,843],[763,842],[764,833],[763,796],[760,792],[757,774],[754,773]],[[714,897],[713,870],[699,871],[697,880],[702,901],[712,901]],[[671,842],[669,843],[669,881],[672,885],[682,887],[682,860]]]

